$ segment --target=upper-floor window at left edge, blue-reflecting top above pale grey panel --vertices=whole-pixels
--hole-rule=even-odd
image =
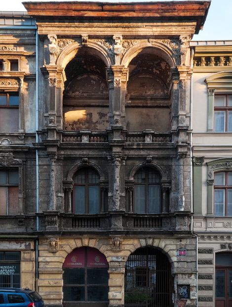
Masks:
[[[19,93],[0,92],[0,132],[19,129]]]

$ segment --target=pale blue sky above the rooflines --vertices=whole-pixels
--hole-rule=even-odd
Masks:
[[[36,1],[36,0],[31,0]],[[45,0],[40,0],[45,1]],[[61,0],[58,0],[61,2]],[[93,0],[88,0],[93,1]],[[95,0],[94,0],[95,1]],[[149,0],[148,0],[149,1]],[[161,1],[161,0],[156,0]],[[168,1],[168,0],[162,0]],[[145,2],[144,0],[102,0],[102,2]],[[152,1],[151,1],[152,2]],[[0,0],[0,11],[25,11],[22,0]],[[232,40],[232,0],[211,0],[203,30],[195,41]]]

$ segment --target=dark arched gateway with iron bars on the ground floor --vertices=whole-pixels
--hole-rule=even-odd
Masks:
[[[170,262],[152,247],[136,250],[125,264],[125,307],[172,307]]]

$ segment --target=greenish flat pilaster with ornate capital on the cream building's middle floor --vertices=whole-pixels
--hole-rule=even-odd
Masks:
[[[202,215],[202,164],[203,156],[193,157],[193,212]]]

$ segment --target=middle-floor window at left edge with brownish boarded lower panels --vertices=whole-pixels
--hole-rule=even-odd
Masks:
[[[0,215],[18,214],[18,181],[17,170],[0,170]]]

